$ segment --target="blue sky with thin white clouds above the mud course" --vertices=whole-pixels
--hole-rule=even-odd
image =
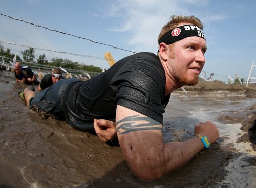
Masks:
[[[133,52],[157,53],[158,35],[170,16],[194,15],[207,41],[200,76],[214,73],[212,80],[228,82],[237,74],[247,80],[256,64],[255,10],[254,0],[8,0],[1,2],[0,13],[23,21],[0,15],[0,44],[20,57],[25,45],[35,49],[35,59],[45,54],[49,61],[62,58],[108,69],[104,53],[115,61]],[[256,67],[250,77],[256,77]]]

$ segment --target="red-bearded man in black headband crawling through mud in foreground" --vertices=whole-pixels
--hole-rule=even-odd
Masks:
[[[170,93],[197,84],[204,67],[207,46],[202,29],[195,16],[172,16],[159,34],[157,55],[137,53],[90,80],[63,79],[36,95],[25,89],[27,105],[65,119],[76,129],[94,128],[101,138],[116,134],[133,174],[159,179],[219,137],[217,126],[206,121],[195,125],[195,137],[185,142],[163,141]]]

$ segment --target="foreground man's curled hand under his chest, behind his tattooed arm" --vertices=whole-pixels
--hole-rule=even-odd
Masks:
[[[109,120],[94,119],[93,123],[95,132],[104,142],[116,137],[116,123]]]

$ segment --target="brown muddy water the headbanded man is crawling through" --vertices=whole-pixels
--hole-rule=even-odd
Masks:
[[[255,111],[256,98],[238,93],[173,93],[164,114],[164,141],[193,137],[198,122],[220,129],[218,142],[179,171],[157,181],[142,181],[126,166],[119,147],[65,122],[41,119],[17,96],[24,85],[0,71],[0,187],[254,187],[256,152],[240,123]]]

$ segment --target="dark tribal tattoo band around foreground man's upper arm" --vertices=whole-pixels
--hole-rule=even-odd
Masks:
[[[143,121],[147,123],[139,123],[137,121]],[[124,119],[116,122],[116,125],[119,124],[121,125],[116,129],[119,134],[141,130],[162,130],[161,127],[156,126],[160,124],[158,121],[153,120],[150,117],[140,117],[139,115],[125,117]]]

